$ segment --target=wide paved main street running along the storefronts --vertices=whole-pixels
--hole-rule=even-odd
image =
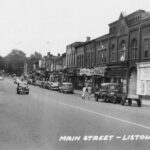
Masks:
[[[150,107],[82,100],[0,81],[0,150],[148,150]]]

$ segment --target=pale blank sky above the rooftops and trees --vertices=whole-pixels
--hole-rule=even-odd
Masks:
[[[150,11],[150,0],[0,0],[0,55],[66,52],[66,46],[105,35],[120,13]]]

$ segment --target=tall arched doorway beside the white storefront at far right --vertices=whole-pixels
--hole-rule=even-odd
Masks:
[[[128,97],[129,98],[136,98],[136,89],[137,89],[137,69],[133,68],[130,71],[129,76],[129,84],[128,84]]]

